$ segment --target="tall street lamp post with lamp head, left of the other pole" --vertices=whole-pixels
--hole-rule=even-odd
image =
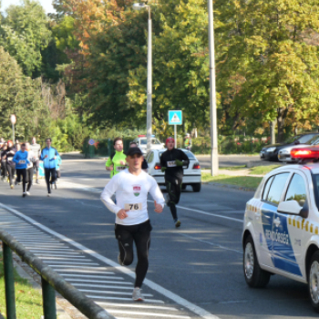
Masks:
[[[150,6],[145,4],[134,4],[133,9],[141,10],[141,9],[149,9],[149,23],[148,23],[148,97],[147,97],[147,108],[146,108],[146,127],[147,127],[147,151],[150,150],[150,142],[151,142],[151,135],[152,135],[152,21],[151,21],[151,14],[150,14]]]

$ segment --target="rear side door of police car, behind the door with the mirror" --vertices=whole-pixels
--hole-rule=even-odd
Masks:
[[[259,262],[270,267],[273,267],[273,219],[290,175],[290,172],[281,172],[271,176],[263,188],[262,202],[256,203],[254,209],[255,243]]]

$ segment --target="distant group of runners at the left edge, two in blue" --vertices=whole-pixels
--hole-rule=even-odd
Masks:
[[[36,143],[36,138],[32,142],[15,144],[12,140],[0,139],[1,156],[1,180],[8,181],[13,190],[15,185],[22,183],[22,196],[30,195],[33,184],[34,172],[36,172],[36,183],[39,184],[40,160],[43,161],[45,170],[47,196],[50,196],[51,189],[57,189],[57,169],[62,160],[57,149],[51,147],[51,139],[46,139],[46,148],[41,150],[40,144]],[[15,178],[16,175],[16,178]]]

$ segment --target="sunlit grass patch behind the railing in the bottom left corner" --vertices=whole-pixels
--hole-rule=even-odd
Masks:
[[[39,319],[43,315],[42,295],[15,271],[15,311],[19,319]],[[5,275],[3,254],[0,252],[0,314],[6,318]]]

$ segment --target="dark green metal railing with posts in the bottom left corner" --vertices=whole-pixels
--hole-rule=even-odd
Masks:
[[[89,319],[115,319],[113,315],[108,314],[105,309],[87,298],[84,293],[79,292],[72,284],[67,283],[62,276],[54,272],[32,252],[26,250],[26,248],[20,242],[17,242],[9,233],[0,230],[0,240],[3,242],[7,319],[16,319],[15,279],[12,251],[41,276],[43,313],[45,319],[57,319],[56,291]]]

